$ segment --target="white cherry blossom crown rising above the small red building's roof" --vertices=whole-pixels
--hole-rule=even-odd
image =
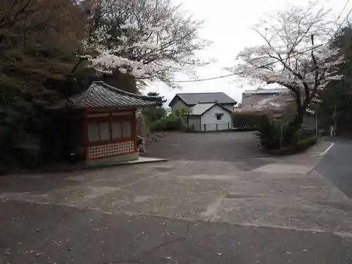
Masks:
[[[196,51],[210,42],[198,36],[202,21],[170,0],[100,0],[92,8],[92,30],[80,62],[103,73],[119,70],[137,80],[170,86],[175,73],[206,65]]]

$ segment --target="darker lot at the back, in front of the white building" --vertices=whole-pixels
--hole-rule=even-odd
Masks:
[[[189,161],[236,161],[265,156],[253,132],[168,132],[159,142],[146,145],[147,156]]]

